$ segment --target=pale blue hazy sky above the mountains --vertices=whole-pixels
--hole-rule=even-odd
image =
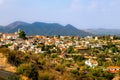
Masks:
[[[14,21],[120,28],[120,0],[0,0],[0,25]]]

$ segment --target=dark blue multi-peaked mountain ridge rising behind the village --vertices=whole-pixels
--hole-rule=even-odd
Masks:
[[[84,30],[79,30],[67,24],[63,26],[58,23],[43,23],[43,22],[34,22],[26,23],[22,21],[13,22],[7,26],[0,26],[0,32],[3,33],[13,33],[18,31],[18,29],[24,30],[27,35],[62,35],[62,36],[91,36],[93,35],[90,32]]]

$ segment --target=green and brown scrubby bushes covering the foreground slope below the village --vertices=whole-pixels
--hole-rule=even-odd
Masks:
[[[59,58],[58,53],[23,53],[9,50],[6,47],[0,48],[0,53],[7,57],[9,63],[17,67],[17,75],[23,75],[32,80],[111,80],[115,77],[115,74],[103,70],[103,67],[86,66],[84,64],[86,59],[82,55],[72,56],[73,60],[65,60]],[[114,65],[112,62],[103,61],[105,60],[104,55],[106,54],[98,55],[102,58],[98,59],[99,65]],[[120,57],[120,55],[118,56]],[[118,56],[116,58],[119,58]],[[115,64],[119,65],[119,62]]]

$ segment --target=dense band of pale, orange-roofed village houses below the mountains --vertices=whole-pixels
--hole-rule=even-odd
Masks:
[[[74,49],[76,51],[87,49],[88,47],[102,48],[101,44],[93,44],[87,40],[79,40],[80,38],[78,36],[74,37],[74,41],[71,40],[70,36],[60,36],[60,38],[58,38],[57,36],[47,37],[39,35],[28,36],[27,40],[22,40],[18,38],[18,32],[15,32],[6,34],[0,33],[0,39],[0,46],[11,44],[8,48],[12,50],[19,50],[22,52],[32,51],[35,53],[43,53],[41,48],[38,48],[38,44],[41,43],[45,45],[54,44],[63,52],[67,50],[67,48],[69,48],[70,46],[74,46]]]

